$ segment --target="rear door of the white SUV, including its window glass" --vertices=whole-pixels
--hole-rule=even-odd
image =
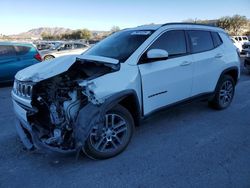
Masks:
[[[188,31],[194,58],[192,96],[213,92],[224,66],[222,40],[217,32]]]

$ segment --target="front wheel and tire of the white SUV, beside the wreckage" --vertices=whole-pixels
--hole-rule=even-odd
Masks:
[[[85,153],[94,159],[114,157],[126,149],[133,132],[134,120],[130,112],[117,105],[106,113],[105,125],[101,129],[93,127],[85,144]]]

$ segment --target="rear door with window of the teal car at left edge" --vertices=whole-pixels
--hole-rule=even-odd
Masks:
[[[18,58],[12,45],[0,45],[0,82],[14,80]]]

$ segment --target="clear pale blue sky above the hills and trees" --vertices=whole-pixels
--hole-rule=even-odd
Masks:
[[[103,31],[235,14],[250,18],[250,0],[1,0],[0,34],[38,27]]]

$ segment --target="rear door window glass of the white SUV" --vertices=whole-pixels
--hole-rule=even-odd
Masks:
[[[208,51],[214,48],[209,31],[188,31],[193,53]]]

